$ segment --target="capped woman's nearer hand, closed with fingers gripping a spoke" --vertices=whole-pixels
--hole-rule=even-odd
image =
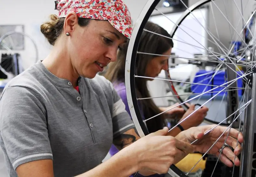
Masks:
[[[188,153],[194,152],[194,147],[187,142],[171,136],[165,136],[168,128],[151,133],[123,150],[130,150],[135,155],[138,169],[142,175],[167,173],[170,165],[179,162]],[[122,151],[120,151],[122,152]]]

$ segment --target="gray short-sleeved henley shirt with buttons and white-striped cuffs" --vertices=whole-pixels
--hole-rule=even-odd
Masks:
[[[0,144],[10,176],[40,159],[53,159],[55,176],[99,165],[113,138],[134,128],[111,82],[80,77],[80,93],[41,61],[12,79],[0,98]]]

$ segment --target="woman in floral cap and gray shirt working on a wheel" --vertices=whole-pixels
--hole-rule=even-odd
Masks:
[[[9,176],[166,173],[188,153],[204,152],[214,142],[209,137],[216,140],[225,131],[219,126],[203,137],[212,128],[204,126],[174,138],[164,128],[140,138],[112,84],[96,75],[116,60],[118,47],[131,36],[126,5],[121,0],[58,0],[56,9],[58,16],[41,25],[52,51],[12,79],[0,99],[0,144]],[[124,143],[124,134],[137,141]],[[236,130],[230,136],[243,141]],[[199,143],[190,145],[196,138]],[[120,152],[101,163],[113,141]],[[223,143],[224,137],[209,153],[218,155]],[[235,153],[225,149],[222,160],[232,165],[227,159],[241,146]]]

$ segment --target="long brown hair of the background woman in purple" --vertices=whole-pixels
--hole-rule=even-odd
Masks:
[[[152,22],[147,22],[145,29],[151,32],[158,33],[163,36],[171,37],[166,30],[161,26],[156,25]],[[143,32],[140,38],[140,43],[138,46],[138,52],[144,53],[154,53],[163,54],[171,47],[173,47],[172,39],[165,38],[153,34],[151,32]],[[129,43],[124,44],[117,53],[117,61],[109,65],[105,77],[113,82],[120,83],[124,82],[125,73],[125,60],[126,53]],[[154,55],[147,54],[137,54],[135,63],[135,74],[139,76],[144,76],[146,72],[147,65],[150,60],[155,58]],[[137,90],[137,97],[147,98],[151,97],[147,88],[147,80],[144,78],[135,79],[135,87]],[[145,119],[155,116],[162,111],[156,106],[152,99],[140,100],[139,104],[142,106],[142,111]],[[147,121],[147,128],[149,132],[155,132],[162,129],[164,126],[164,114],[157,116],[156,118]]]

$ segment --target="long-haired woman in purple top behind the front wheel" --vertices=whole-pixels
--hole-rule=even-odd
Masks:
[[[167,31],[165,31],[161,26],[154,24],[152,22],[147,22],[145,25],[145,29],[148,31],[160,34],[162,36],[170,37]],[[155,56],[155,55],[146,55],[146,54],[138,54],[136,59],[136,75],[150,77],[153,80],[162,69],[168,69],[167,60],[169,55],[171,55],[171,50],[173,47],[172,39],[168,39],[150,32],[143,32],[141,36],[141,42],[138,47],[138,51],[144,53],[155,53],[165,56]],[[111,81],[116,89],[118,95],[121,97],[125,104],[126,111],[130,114],[130,110],[127,103],[126,98],[126,90],[124,84],[124,71],[125,71],[125,61],[126,61],[126,53],[128,49],[129,43],[124,44],[120,47],[120,50],[117,54],[117,61],[113,62],[109,65],[108,70],[105,74],[105,77]],[[137,88],[137,95],[140,98],[148,98],[151,97],[147,88],[147,79],[144,78],[136,78],[136,88]],[[153,117],[165,110],[169,110],[172,107],[175,107],[177,104],[164,108],[164,107],[157,107],[152,99],[147,100],[140,100],[139,101],[143,119],[148,119]],[[167,117],[175,117],[175,115],[182,115],[181,120],[186,118],[189,114],[194,111],[195,106],[190,105],[190,108],[186,111],[183,110],[181,107],[173,108],[167,111],[165,114],[161,114],[156,118],[150,119],[147,121],[147,128],[148,131],[155,132],[161,130],[165,125],[164,119]],[[187,120],[182,122],[179,127],[173,129],[171,133],[172,136],[176,136],[180,133],[180,131],[187,130],[190,127],[197,126],[202,123],[208,108],[202,107],[202,109],[196,111],[194,114],[191,115]],[[184,114],[185,113],[185,114]],[[114,145],[111,146],[110,155],[114,155],[118,150]],[[155,176],[163,176],[163,175],[155,175]]]

